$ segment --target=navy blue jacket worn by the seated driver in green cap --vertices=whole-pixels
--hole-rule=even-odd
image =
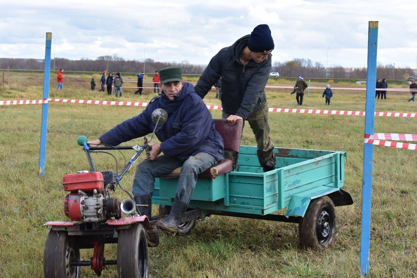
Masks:
[[[166,123],[158,125],[155,131],[165,155],[187,160],[191,155],[206,152],[218,160],[222,158],[223,139],[214,128],[210,111],[190,83],[185,83],[172,101],[162,91],[141,114],[110,129],[100,140],[105,145],[116,146],[151,133],[155,127],[151,115],[156,108],[168,113]]]

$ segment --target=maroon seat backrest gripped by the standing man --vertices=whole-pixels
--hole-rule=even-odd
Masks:
[[[236,121],[234,126],[227,124],[226,119],[213,119],[216,131],[223,137],[224,150],[239,152],[241,146],[243,121]]]

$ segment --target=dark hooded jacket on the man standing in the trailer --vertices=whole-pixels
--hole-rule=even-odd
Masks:
[[[221,105],[225,113],[246,120],[266,103],[265,85],[271,71],[271,54],[261,63],[250,61],[246,66],[239,60],[248,45],[249,35],[221,49],[210,61],[195,87],[202,98],[221,77]]]

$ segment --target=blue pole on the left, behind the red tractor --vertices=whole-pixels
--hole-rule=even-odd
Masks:
[[[45,69],[43,71],[43,99],[49,98],[50,52],[52,33],[46,33]],[[46,131],[48,129],[48,103],[42,104],[42,122],[39,148],[39,176],[45,175]]]

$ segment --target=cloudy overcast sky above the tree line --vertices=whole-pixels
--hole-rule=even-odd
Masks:
[[[0,9],[0,58],[95,60],[117,54],[206,65],[222,47],[268,24],[274,62],[310,59],[366,67],[368,22],[379,21],[383,65],[417,67],[417,4],[409,1],[7,1]]]

